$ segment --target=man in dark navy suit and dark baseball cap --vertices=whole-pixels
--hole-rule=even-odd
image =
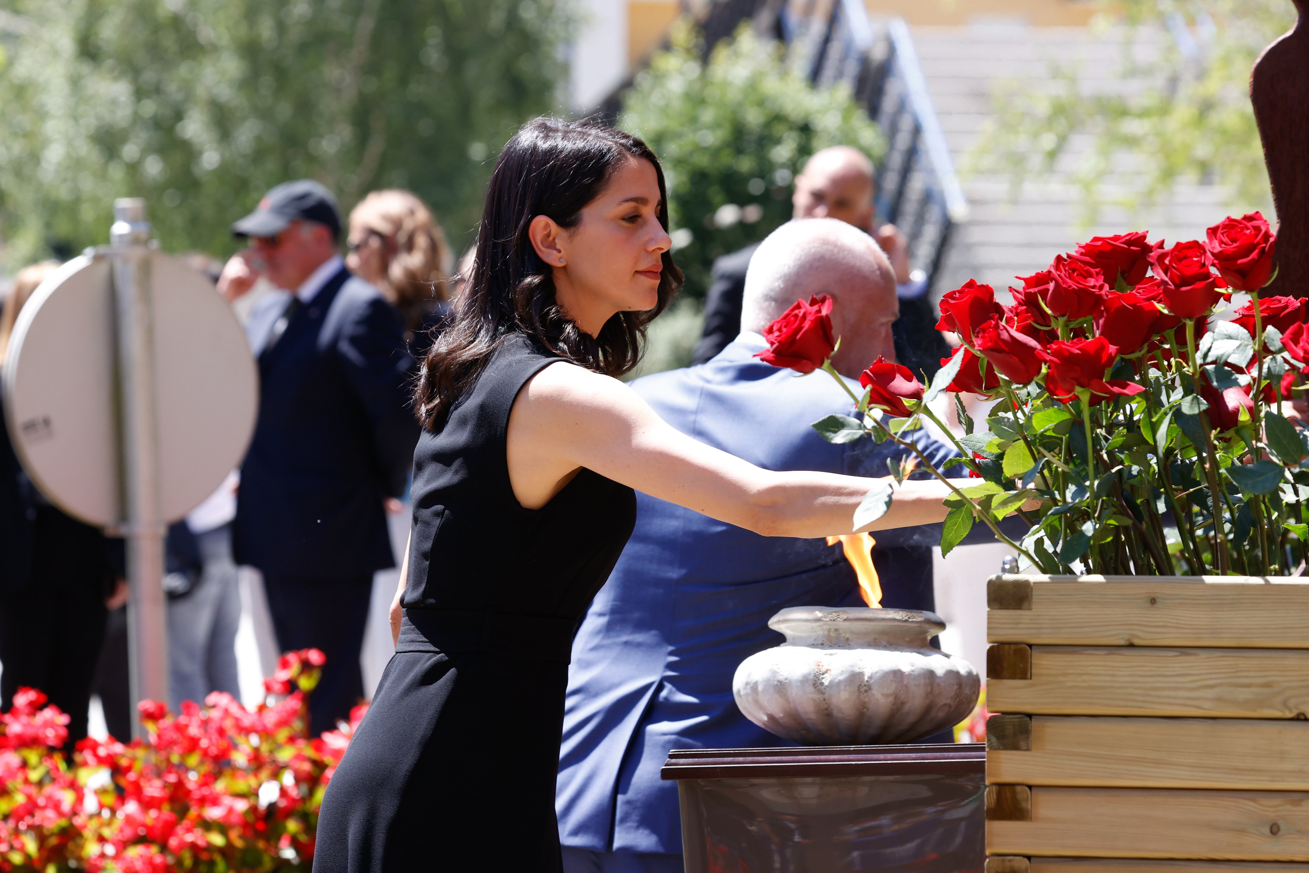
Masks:
[[[395,563],[384,501],[404,492],[419,433],[412,361],[395,310],[346,270],[340,213],[322,185],[279,185],[232,232],[253,245],[220,291],[240,296],[263,275],[284,292],[258,301],[247,323],[259,420],[233,544],[238,563],[263,572],[278,645],[327,656],[309,703],[318,733],[363,696],[373,573]]]

